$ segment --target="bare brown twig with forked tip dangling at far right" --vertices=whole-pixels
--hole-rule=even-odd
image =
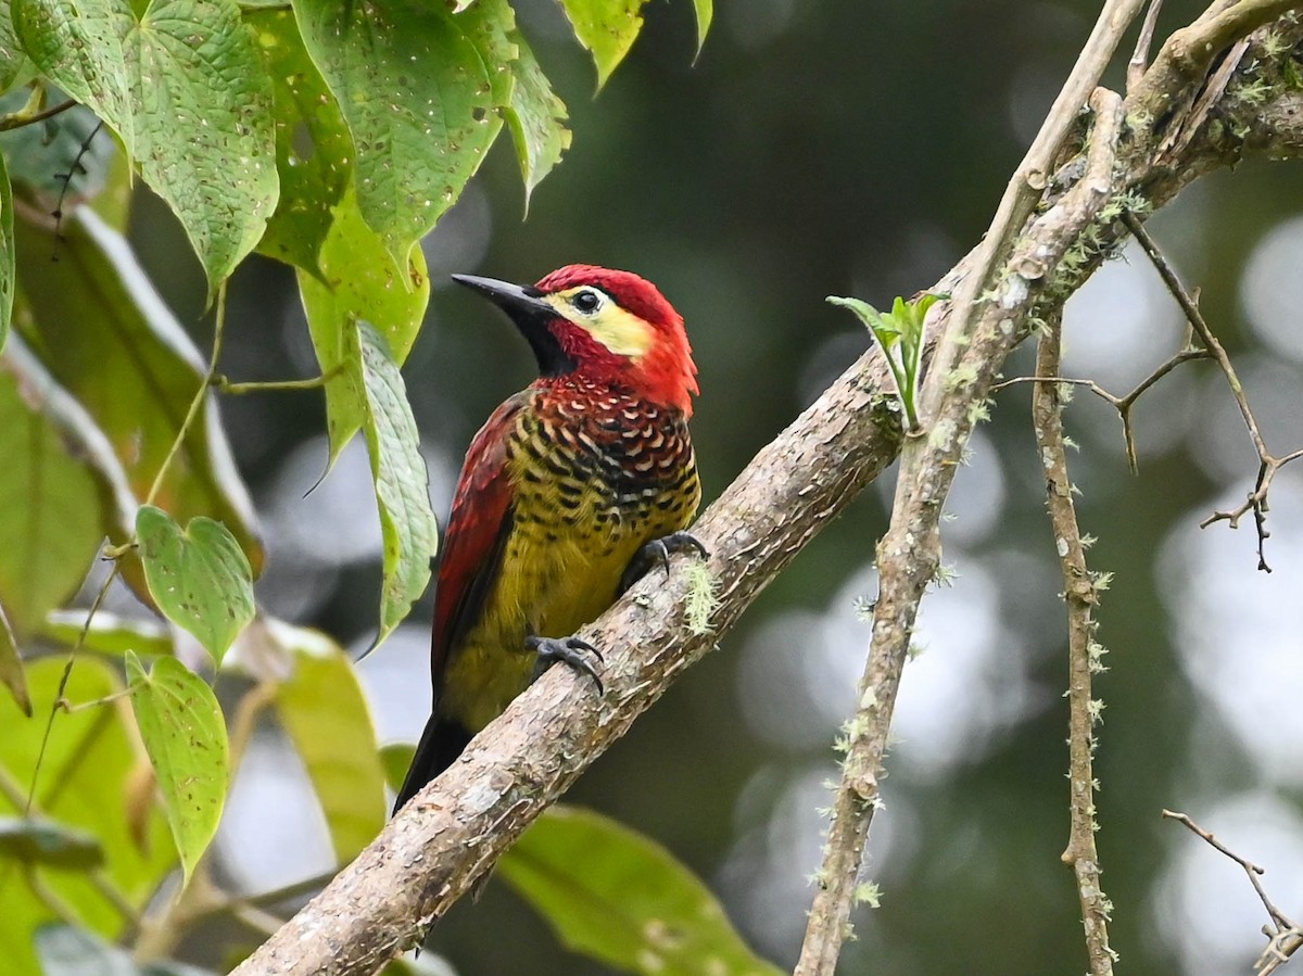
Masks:
[[[1244,503],[1238,508],[1229,511],[1214,511],[1199,524],[1199,528],[1207,529],[1213,523],[1226,521],[1233,529],[1235,529],[1239,528],[1240,517],[1243,517],[1246,512],[1252,511],[1253,523],[1257,529],[1257,568],[1263,572],[1270,572],[1272,567],[1268,566],[1264,551],[1267,539],[1272,536],[1272,533],[1267,530],[1267,512],[1270,511],[1268,493],[1272,490],[1272,478],[1276,477],[1276,472],[1290,461],[1303,457],[1303,448],[1291,451],[1290,453],[1280,457],[1267,450],[1267,442],[1263,439],[1261,430],[1259,430],[1257,420],[1253,417],[1253,410],[1250,409],[1248,397],[1244,394],[1243,384],[1239,382],[1239,375],[1237,375],[1235,367],[1231,365],[1230,356],[1226,354],[1226,349],[1217,340],[1217,336],[1213,335],[1212,328],[1204,319],[1204,314],[1199,310],[1199,304],[1190,294],[1190,292],[1186,291],[1186,287],[1181,283],[1181,279],[1167,262],[1167,258],[1154,242],[1153,237],[1149,236],[1149,232],[1144,228],[1144,224],[1140,223],[1139,218],[1136,218],[1135,214],[1127,212],[1122,215],[1122,222],[1135,236],[1136,241],[1139,241],[1144,253],[1149,257],[1149,261],[1153,262],[1154,268],[1158,271],[1158,276],[1162,278],[1167,291],[1171,292],[1177,304],[1181,305],[1181,310],[1186,313],[1187,322],[1199,335],[1204,348],[1208,349],[1212,358],[1217,360],[1217,365],[1221,367],[1221,371],[1226,377],[1226,382],[1230,386],[1231,396],[1235,397],[1235,405],[1239,407],[1239,414],[1244,421],[1244,426],[1248,429],[1248,435],[1253,440],[1253,450],[1257,452],[1257,480],[1253,482],[1253,490],[1248,493]]]

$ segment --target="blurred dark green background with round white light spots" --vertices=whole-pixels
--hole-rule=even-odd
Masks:
[[[693,66],[691,4],[657,0],[628,61],[594,73],[559,8],[519,14],[569,106],[575,146],[524,202],[500,142],[425,242],[435,293],[405,367],[437,511],[466,443],[532,378],[525,344],[452,271],[534,280],[568,262],[636,270],[684,314],[701,369],[693,423],[708,500],[866,348],[823,304],[878,306],[930,285],[985,228],[1084,40],[1087,0],[721,0]],[[1197,13],[1169,3],[1170,29]],[[1162,31],[1161,31],[1162,33]],[[1113,78],[1119,83],[1119,78]],[[1192,186],[1151,224],[1238,364],[1268,443],[1303,446],[1303,167],[1247,163]],[[133,212],[141,258],[201,345],[203,280],[156,202]],[[292,274],[251,258],[231,298],[223,370],[311,375]],[[1183,323],[1127,250],[1068,305],[1066,370],[1124,392],[1178,348]],[[1009,375],[1028,371],[1020,351]],[[354,444],[326,459],[317,394],[231,399],[224,418],[262,512],[262,603],[361,650],[379,586],[379,533]],[[1268,559],[1251,520],[1200,530],[1256,472],[1221,375],[1182,367],[1135,412],[1140,474],[1121,426],[1079,395],[1068,427],[1092,564],[1115,573],[1100,611],[1110,671],[1097,773],[1104,881],[1124,971],[1248,972],[1265,921],[1243,874],[1162,808],[1188,812],[1268,868],[1303,916],[1303,464],[1272,491]],[[569,800],[658,839],[723,899],[745,937],[795,960],[868,644],[873,547],[890,478],[869,489],[756,602],[722,648],[599,760]],[[896,744],[844,973],[1079,973],[1067,839],[1063,606],[1042,510],[1027,387],[997,400],[950,499],[958,579],[928,601],[906,671]],[[429,597],[361,665],[382,740],[427,709]],[[249,890],[331,863],[293,751],[259,732],[219,838]],[[500,882],[430,942],[460,973],[597,973]],[[201,955],[205,946],[192,946]]]

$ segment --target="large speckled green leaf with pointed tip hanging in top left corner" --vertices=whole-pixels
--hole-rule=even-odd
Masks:
[[[235,0],[14,0],[33,60],[119,133],[210,293],[276,206],[271,82]]]

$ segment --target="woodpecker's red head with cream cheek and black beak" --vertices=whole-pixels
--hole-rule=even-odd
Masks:
[[[542,375],[618,383],[692,414],[697,367],[683,318],[646,279],[593,265],[567,265],[536,285],[452,279],[511,315]]]

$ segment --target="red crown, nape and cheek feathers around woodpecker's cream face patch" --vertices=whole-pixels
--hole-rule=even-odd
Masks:
[[[627,383],[644,400],[663,404],[692,416],[692,396],[700,394],[697,366],[683,327],[683,317],[674,310],[657,287],[631,271],[612,271],[595,265],[567,265],[552,271],[536,287],[558,292],[589,284],[610,294],[654,332],[652,347],[637,361],[611,353],[584,330],[560,321],[563,332],[556,337],[567,353],[579,362],[579,371],[594,379]],[[568,326],[568,327],[567,327]]]

